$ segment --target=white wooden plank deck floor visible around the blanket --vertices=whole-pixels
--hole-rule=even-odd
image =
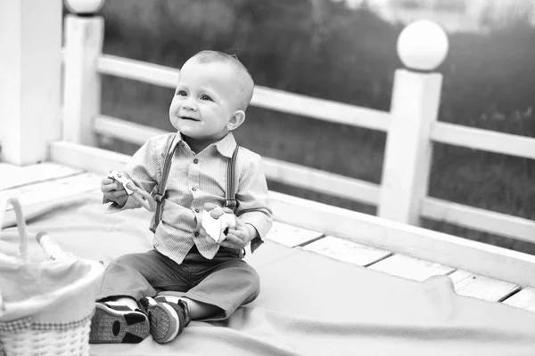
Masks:
[[[98,190],[101,179],[98,174],[48,162],[26,167],[0,163],[0,177],[0,192],[17,195],[25,206],[27,216],[41,203],[84,191]],[[336,236],[325,236],[320,231],[310,231],[285,223],[275,222],[268,239],[287,247],[303,248],[400,278],[422,281],[432,276],[449,276],[458,295],[506,303],[535,312],[535,289],[532,287],[517,286],[470,271],[393,254],[387,250],[360,245]]]

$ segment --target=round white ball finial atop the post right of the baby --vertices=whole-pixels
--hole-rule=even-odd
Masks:
[[[411,23],[398,37],[399,59],[408,69],[436,69],[446,58],[448,49],[446,32],[429,20]]]

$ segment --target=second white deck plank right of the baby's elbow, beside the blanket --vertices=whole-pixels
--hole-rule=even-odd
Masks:
[[[347,239],[326,236],[303,247],[335,260],[367,266],[391,255],[390,251],[358,244]]]

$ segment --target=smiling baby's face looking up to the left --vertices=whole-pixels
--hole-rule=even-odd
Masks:
[[[199,63],[193,58],[180,70],[169,119],[181,134],[217,142],[233,129],[236,113],[243,114],[237,108],[238,97],[228,63]]]

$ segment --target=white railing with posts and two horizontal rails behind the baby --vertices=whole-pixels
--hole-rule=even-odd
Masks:
[[[70,15],[65,31],[63,139],[92,145],[95,134],[103,134],[142,144],[150,136],[162,134],[152,127],[103,116],[96,99],[100,95],[99,76],[174,88],[179,70],[103,54],[101,18]],[[410,30],[406,32],[408,38]],[[440,43],[440,37],[432,40]],[[440,53],[425,55],[440,57]],[[416,67],[425,60],[406,57],[405,61]],[[441,60],[434,61],[437,66]],[[420,217],[426,217],[535,242],[535,222],[531,220],[427,197],[432,142],[535,159],[535,139],[438,122],[440,91],[440,74],[398,69],[391,112],[384,112],[257,86],[251,105],[388,134],[381,185],[264,158],[268,179],[376,205],[379,216],[402,223],[417,225]]]

